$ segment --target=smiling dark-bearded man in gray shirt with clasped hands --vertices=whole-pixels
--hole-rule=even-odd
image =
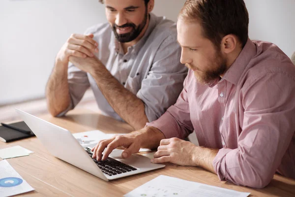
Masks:
[[[104,115],[138,130],[183,88],[187,68],[179,62],[176,24],[150,13],[154,0],[104,3],[108,23],[72,34],[60,49],[46,87],[48,109],[64,115],[90,87]]]

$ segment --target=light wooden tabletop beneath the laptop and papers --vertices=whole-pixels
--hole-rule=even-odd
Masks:
[[[41,116],[41,118],[73,133],[90,130],[100,130],[106,133],[132,131],[132,128],[125,123],[83,109],[75,109],[62,118],[54,118],[50,115]],[[275,175],[264,189],[251,189],[219,181],[217,175],[200,167],[178,166],[170,163],[166,164],[165,168],[106,182],[55,158],[36,137],[10,143],[0,142],[0,148],[15,145],[35,152],[27,157],[7,160],[35,189],[23,196],[121,197],[159,175],[167,175],[240,192],[250,192],[253,197],[295,197],[295,180],[280,175]]]

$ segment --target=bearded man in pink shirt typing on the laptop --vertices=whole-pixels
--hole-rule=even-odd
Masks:
[[[295,66],[276,45],[251,41],[248,23],[243,0],[187,0],[177,40],[189,72],[177,102],[144,129],[100,141],[93,157],[157,148],[153,163],[201,166],[237,185],[295,178]],[[183,140],[193,131],[200,146]]]

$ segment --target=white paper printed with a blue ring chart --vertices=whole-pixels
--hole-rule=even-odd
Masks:
[[[0,162],[0,197],[9,197],[33,190],[34,188],[6,160]]]

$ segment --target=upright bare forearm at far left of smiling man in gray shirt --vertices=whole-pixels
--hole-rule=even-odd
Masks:
[[[55,67],[46,86],[48,111],[57,116],[70,104],[69,85],[67,82],[67,65],[56,61]]]

